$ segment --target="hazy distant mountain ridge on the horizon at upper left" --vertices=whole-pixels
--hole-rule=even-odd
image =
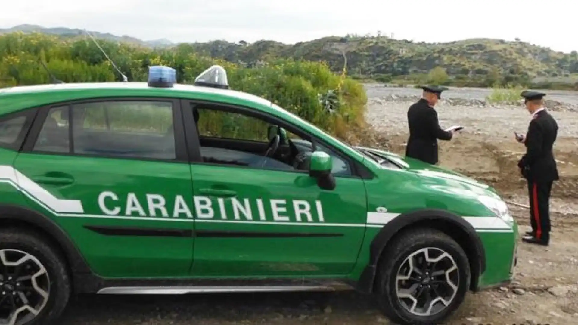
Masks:
[[[53,27],[53,28],[46,28],[40,25],[34,24],[22,24],[17,25],[12,28],[2,29],[0,28],[0,35],[11,33],[11,32],[24,32],[24,33],[33,33],[38,32],[42,34],[53,34],[59,35],[64,37],[76,37],[76,36],[86,36],[84,34],[83,29],[76,29],[76,28],[65,28],[65,27]],[[106,39],[113,42],[125,42],[125,43],[132,43],[136,45],[142,46],[149,46],[149,47],[167,47],[173,46],[174,43],[170,40],[163,38],[163,39],[155,39],[155,40],[140,40],[138,38],[134,38],[132,36],[123,35],[117,36],[110,33],[101,33],[101,32],[94,32],[88,31],[92,36],[99,39]]]

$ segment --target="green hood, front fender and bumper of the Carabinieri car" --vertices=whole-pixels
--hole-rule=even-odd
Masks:
[[[478,285],[486,287],[512,278],[510,271],[516,253],[517,224],[500,219],[476,200],[480,195],[498,197],[494,189],[445,168],[383,150],[364,149],[380,154],[402,167],[383,168],[384,172],[377,174],[379,180],[366,181],[369,202],[387,206],[388,212],[394,215],[419,209],[442,209],[464,217],[476,229],[486,258],[491,261],[480,276]],[[412,200],[405,199],[407,197]],[[374,208],[377,205],[370,203],[369,209]]]

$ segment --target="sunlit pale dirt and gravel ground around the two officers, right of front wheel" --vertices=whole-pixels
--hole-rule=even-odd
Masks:
[[[411,104],[370,99],[366,119],[380,135],[386,135],[392,152],[403,154],[405,150],[405,113]],[[514,131],[527,130],[528,112],[521,106],[455,106],[447,102],[440,102],[437,110],[442,127],[464,127],[453,141],[440,142],[440,165],[492,184],[513,202],[510,209],[521,231],[528,230],[529,210],[517,205],[528,205],[526,183],[517,169],[525,147],[513,138]],[[561,174],[550,205],[550,247],[520,243],[516,282],[509,288],[470,296],[451,324],[578,323],[578,112],[550,113],[560,127],[555,158]]]

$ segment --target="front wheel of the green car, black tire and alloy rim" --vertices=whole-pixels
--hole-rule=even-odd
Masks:
[[[398,324],[442,323],[464,301],[471,279],[461,246],[429,228],[397,236],[384,249],[377,272],[379,308]]]

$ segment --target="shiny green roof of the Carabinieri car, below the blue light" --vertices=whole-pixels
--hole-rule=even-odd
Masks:
[[[106,97],[173,97],[200,99],[278,110],[267,99],[231,89],[175,84],[150,87],[139,82],[42,84],[0,88],[0,115],[51,103]],[[14,99],[14,100],[13,100]]]

